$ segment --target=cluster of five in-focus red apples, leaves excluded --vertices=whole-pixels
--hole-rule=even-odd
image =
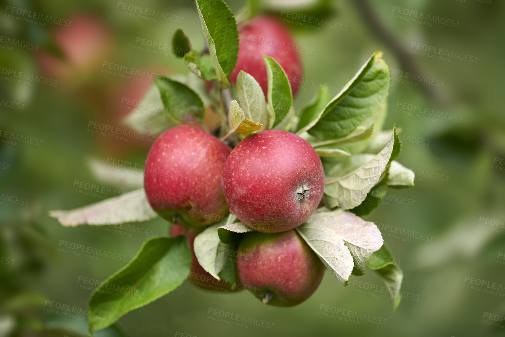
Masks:
[[[264,48],[252,43],[250,36],[293,45],[278,21],[268,17],[250,20],[239,29],[232,82],[244,70],[266,93],[263,56],[275,57],[288,78],[301,76],[296,51]],[[193,241],[215,219],[231,213],[254,229],[236,246],[233,263],[239,282],[244,288],[255,289],[255,296],[265,305],[282,307],[308,299],[323,278],[323,263],[294,228],[320,204],[324,179],[323,165],[314,148],[280,130],[251,134],[231,149],[194,125],[179,125],[156,140],[144,168],[149,204],[174,224],[172,236],[185,233],[187,237],[192,252],[190,282],[201,285],[205,279],[204,283],[221,284],[198,264]],[[229,286],[213,289],[231,290]]]

